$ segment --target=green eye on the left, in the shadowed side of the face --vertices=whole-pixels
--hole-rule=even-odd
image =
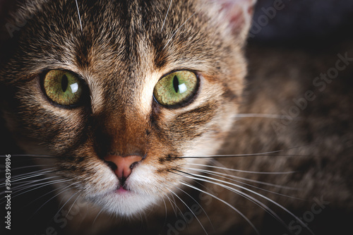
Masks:
[[[78,104],[83,93],[83,81],[64,70],[49,71],[44,77],[43,87],[50,100],[64,106]]]

